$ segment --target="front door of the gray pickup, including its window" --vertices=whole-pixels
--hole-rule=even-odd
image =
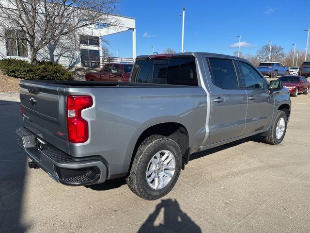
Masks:
[[[243,133],[267,129],[274,113],[274,92],[252,65],[238,62],[244,88],[248,96],[247,126]]]

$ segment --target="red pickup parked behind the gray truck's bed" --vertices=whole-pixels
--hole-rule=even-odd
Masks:
[[[100,72],[86,73],[85,81],[128,82],[132,64],[105,64]]]

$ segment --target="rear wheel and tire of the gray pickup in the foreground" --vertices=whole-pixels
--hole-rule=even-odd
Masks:
[[[171,191],[181,166],[179,145],[171,138],[151,135],[140,144],[126,182],[140,198],[156,200]]]

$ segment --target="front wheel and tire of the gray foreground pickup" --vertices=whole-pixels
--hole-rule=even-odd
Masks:
[[[286,125],[286,114],[278,110],[274,122],[269,129],[269,136],[263,137],[264,142],[271,145],[278,145],[281,143],[286,133]]]

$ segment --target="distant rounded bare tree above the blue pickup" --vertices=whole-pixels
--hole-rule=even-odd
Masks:
[[[261,49],[257,50],[257,58],[260,62],[266,62],[269,58],[269,45],[264,45]],[[270,61],[282,61],[285,57],[284,49],[278,45],[271,46],[271,56]]]

